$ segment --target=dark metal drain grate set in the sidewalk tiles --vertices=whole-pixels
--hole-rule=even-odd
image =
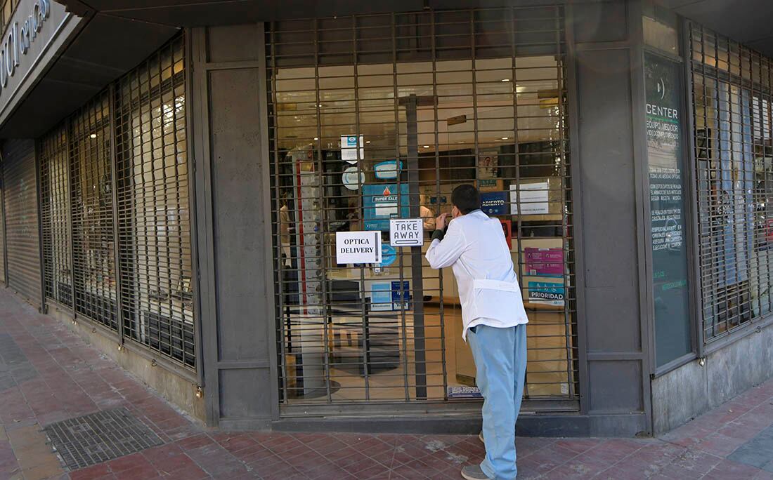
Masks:
[[[70,470],[164,443],[124,407],[70,418],[50,424],[43,431]]]

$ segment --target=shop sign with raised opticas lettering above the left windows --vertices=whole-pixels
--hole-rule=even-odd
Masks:
[[[0,94],[8,86],[9,78],[16,73],[16,67],[22,65],[22,58],[27,55],[51,15],[51,0],[35,0],[31,8],[22,3],[18,8],[25,7],[28,8],[26,16],[9,24],[0,46]]]

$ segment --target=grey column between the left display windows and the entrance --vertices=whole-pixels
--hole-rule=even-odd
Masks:
[[[190,38],[207,422],[265,428],[279,402],[263,25]]]

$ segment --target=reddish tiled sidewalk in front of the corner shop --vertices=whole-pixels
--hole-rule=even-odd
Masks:
[[[124,406],[165,442],[66,472],[41,428]],[[519,478],[773,480],[773,380],[659,439],[519,438]],[[461,478],[476,437],[210,431],[0,290],[0,479]]]

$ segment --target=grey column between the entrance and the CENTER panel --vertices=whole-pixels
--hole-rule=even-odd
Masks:
[[[591,435],[649,433],[641,8],[638,1],[577,4],[567,7],[567,18],[576,233],[583,245],[581,408]]]

